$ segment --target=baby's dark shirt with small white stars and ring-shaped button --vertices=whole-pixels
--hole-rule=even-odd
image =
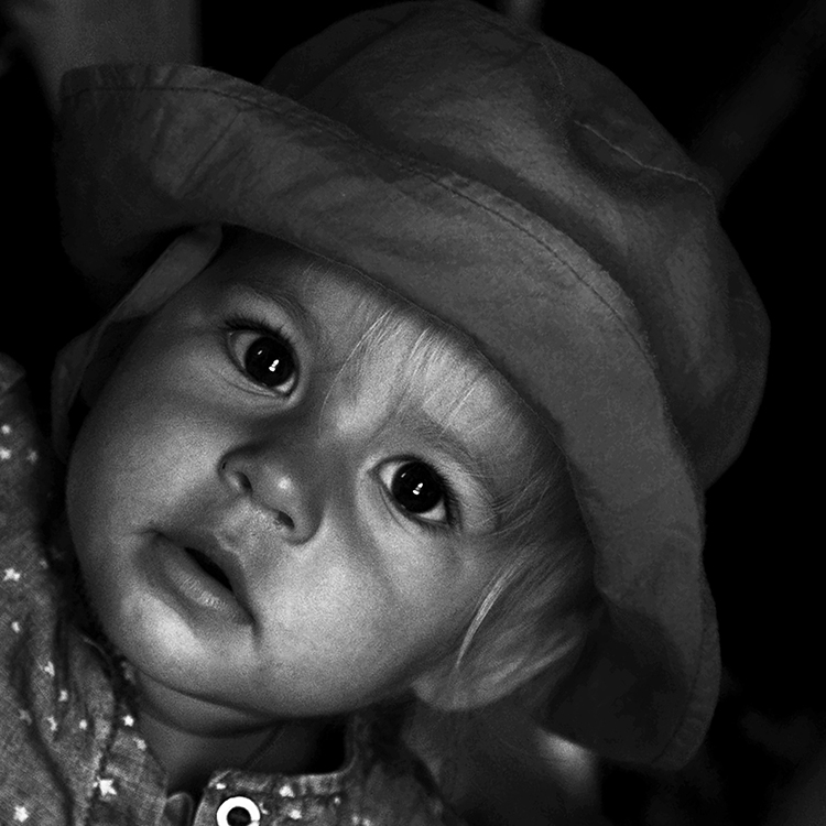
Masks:
[[[169,795],[137,728],[128,680],[74,622],[59,553],[42,533],[54,474],[22,370],[0,355],[0,823],[4,826],[432,826],[458,824],[421,764],[348,725],[326,774],[215,772]]]

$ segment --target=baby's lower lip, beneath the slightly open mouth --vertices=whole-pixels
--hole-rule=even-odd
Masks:
[[[239,624],[251,621],[232,591],[209,576],[183,547],[159,534],[152,550],[149,573],[163,590],[226,621]]]

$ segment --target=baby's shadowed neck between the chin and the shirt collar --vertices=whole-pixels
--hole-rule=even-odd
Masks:
[[[156,684],[141,689],[139,727],[167,773],[170,793],[198,796],[221,769],[295,774],[338,768],[319,762],[328,720],[258,719]]]

